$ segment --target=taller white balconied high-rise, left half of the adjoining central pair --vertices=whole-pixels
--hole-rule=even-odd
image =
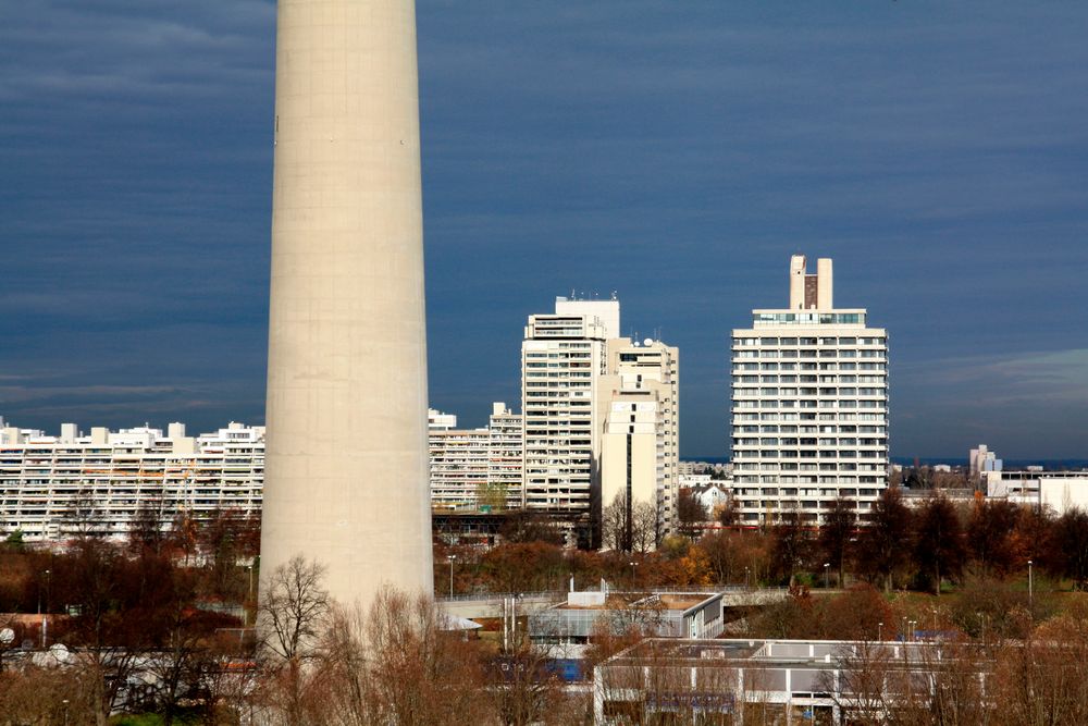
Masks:
[[[527,509],[592,522],[603,429],[597,391],[607,341],[618,335],[615,299],[560,297],[555,313],[529,317],[521,344]]]

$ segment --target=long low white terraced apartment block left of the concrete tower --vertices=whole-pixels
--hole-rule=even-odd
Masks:
[[[217,508],[259,513],[264,484],[264,427],[232,422],[194,439],[185,426],[81,435],[0,430],[0,530],[27,541],[62,542],[79,533],[123,539],[141,506],[163,519],[207,518]]]

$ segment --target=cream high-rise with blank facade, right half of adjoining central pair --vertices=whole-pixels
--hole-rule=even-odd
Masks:
[[[680,354],[647,339],[608,341],[608,374],[602,379],[605,409],[601,446],[601,503],[621,501],[657,512],[656,531],[673,531],[680,471]]]

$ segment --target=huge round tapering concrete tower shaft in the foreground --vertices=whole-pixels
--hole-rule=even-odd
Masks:
[[[416,16],[280,0],[261,569],[432,590]]]

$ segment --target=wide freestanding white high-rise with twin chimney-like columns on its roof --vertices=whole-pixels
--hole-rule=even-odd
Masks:
[[[831,260],[790,267],[790,306],[753,310],[732,333],[732,460],[742,524],[838,497],[866,519],[887,484],[888,334],[866,310],[837,309]]]

